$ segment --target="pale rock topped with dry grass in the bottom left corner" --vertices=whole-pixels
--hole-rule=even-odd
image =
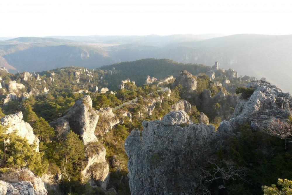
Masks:
[[[20,173],[26,175],[29,181],[19,180]],[[12,176],[11,176],[12,177]],[[20,194],[20,195],[46,195],[48,192],[44,186],[44,182],[40,177],[34,174],[27,168],[23,170],[15,170],[13,178],[9,178],[10,183],[0,181],[0,194]]]

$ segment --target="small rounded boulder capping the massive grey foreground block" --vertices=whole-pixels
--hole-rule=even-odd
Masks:
[[[164,125],[180,125],[189,122],[191,122],[189,115],[182,110],[169,112],[162,119]]]

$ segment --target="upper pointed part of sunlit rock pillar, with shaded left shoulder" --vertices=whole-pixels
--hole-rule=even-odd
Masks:
[[[92,109],[92,100],[89,95],[83,96],[66,112],[66,114],[55,121],[50,122],[54,128],[64,127],[63,131],[70,129],[80,136],[84,145],[97,141],[94,130],[99,115]]]

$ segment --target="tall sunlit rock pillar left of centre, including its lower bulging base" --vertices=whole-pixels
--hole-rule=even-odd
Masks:
[[[108,113],[108,112],[107,112]],[[98,143],[94,131],[99,120],[99,112],[92,108],[89,95],[83,96],[67,111],[67,113],[50,123],[55,129],[61,129],[66,134],[72,129],[82,139],[85,149],[94,144],[97,152],[85,154],[87,165],[81,172],[84,179],[91,179],[92,184],[98,184],[105,189],[108,183],[109,165],[106,162],[106,149]]]

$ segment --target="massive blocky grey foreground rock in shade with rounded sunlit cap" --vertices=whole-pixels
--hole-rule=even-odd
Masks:
[[[136,129],[127,137],[132,194],[194,194],[202,177],[191,166],[216,150],[210,143],[217,143],[219,133],[211,125],[189,122],[179,126],[188,121],[185,112],[170,112],[162,121],[144,121],[142,136]]]

